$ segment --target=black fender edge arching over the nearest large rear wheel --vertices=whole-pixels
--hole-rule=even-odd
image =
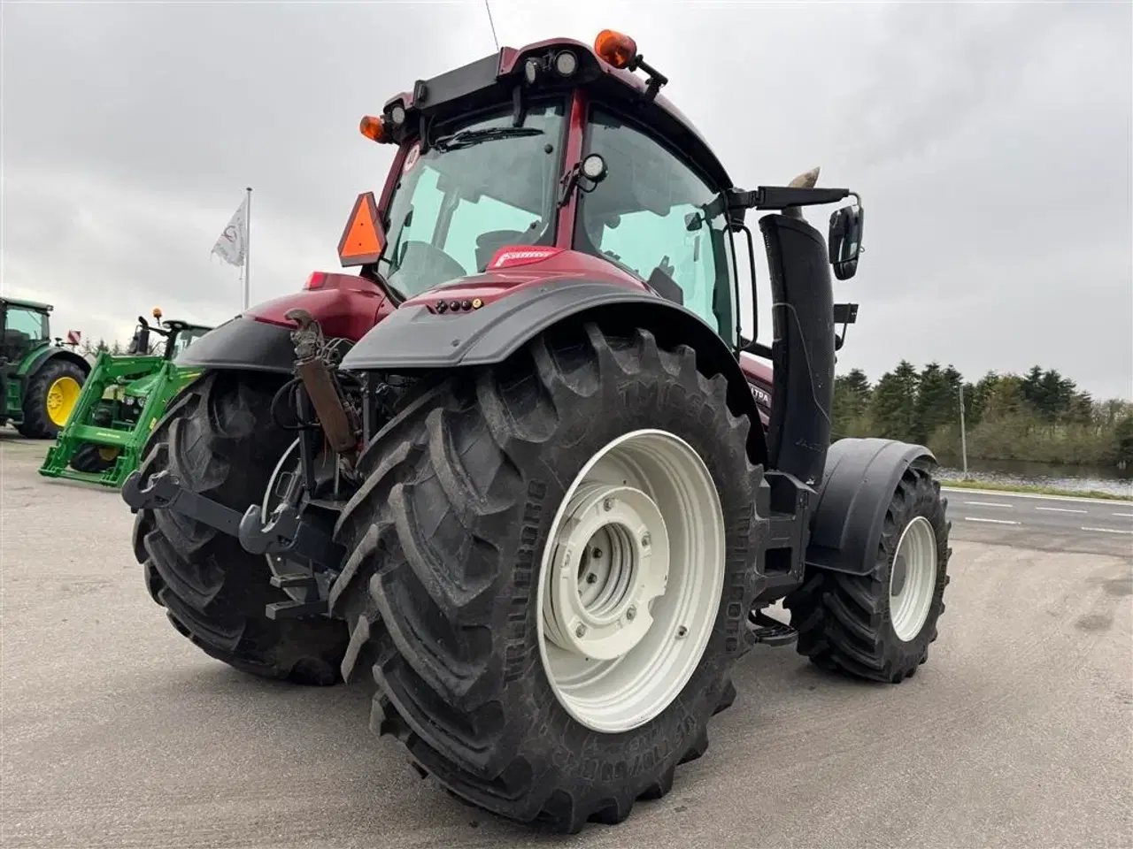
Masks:
[[[492,366],[566,319],[642,327],[662,345],[691,345],[707,374],[722,374],[727,379],[730,406],[756,424],[751,428],[753,461],[766,463],[759,410],[727,343],[691,310],[628,286],[557,280],[461,312],[435,312],[426,303],[404,303],[363,336],[343,358],[342,368],[417,371]]]

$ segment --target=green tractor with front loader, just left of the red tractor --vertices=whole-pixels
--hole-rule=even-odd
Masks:
[[[178,368],[173,359],[212,329],[189,321],[162,321],[160,309],[154,309],[153,317],[156,324],[151,325],[138,316],[126,354],[99,354],[40,474],[117,488],[137,468],[142,446],[165,404],[199,374]],[[151,346],[151,333],[163,341]]]

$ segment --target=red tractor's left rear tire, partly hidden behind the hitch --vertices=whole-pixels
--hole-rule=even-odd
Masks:
[[[170,470],[191,491],[244,512],[259,504],[293,438],[271,417],[279,381],[253,372],[210,371],[186,387],[154,428],[142,484]],[[341,621],[269,619],[288,601],[270,584],[263,556],[235,537],[173,511],[138,511],[134,554],[169,620],[210,657],[241,671],[297,684],[330,685],[349,635]]]

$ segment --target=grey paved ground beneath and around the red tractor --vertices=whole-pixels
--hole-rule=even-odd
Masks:
[[[956,522],[915,678],[757,649],[668,797],[545,838],[417,780],[367,730],[365,685],[278,686],[194,649],[142,585],[118,495],[44,481],[41,456],[0,438],[5,848],[1131,846],[1130,558],[972,542],[979,523]]]

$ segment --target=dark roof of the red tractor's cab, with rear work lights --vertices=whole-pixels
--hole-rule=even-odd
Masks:
[[[578,58],[578,69],[562,77],[551,69],[561,51]],[[546,70],[537,82],[528,84],[523,66],[528,59],[540,60]],[[667,80],[665,80],[667,82]],[[615,68],[602,59],[591,46],[573,38],[548,38],[523,48],[501,48],[497,53],[445,71],[432,79],[419,79],[410,92],[391,97],[384,108],[392,139],[401,144],[418,137],[423,126],[442,123],[489,106],[514,102],[518,96],[538,96],[581,87],[600,100],[632,110],[636,120],[657,132],[698,165],[719,189],[732,188],[727,170],[700,131],[672,102],[650,88],[637,72]],[[394,108],[404,110],[401,125],[394,120]]]

